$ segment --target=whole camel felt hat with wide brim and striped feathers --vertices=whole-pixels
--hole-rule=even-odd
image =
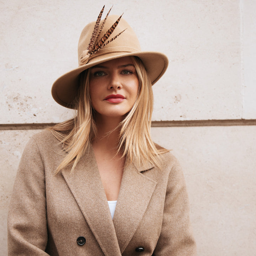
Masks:
[[[81,72],[102,62],[137,56],[142,60],[152,84],[158,81],[167,69],[166,55],[159,52],[143,52],[136,34],[123,18],[107,14],[106,18],[100,21],[102,12],[103,9],[97,21],[86,25],[81,32],[78,43],[79,67],[62,75],[53,83],[52,96],[64,107],[75,108],[74,100],[78,94]]]

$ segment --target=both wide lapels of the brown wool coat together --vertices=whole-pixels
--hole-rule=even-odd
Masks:
[[[156,187],[156,181],[141,172],[152,168],[150,164],[125,166],[113,220],[92,146],[72,173],[68,167],[62,170],[70,191],[106,256],[121,256],[137,229]]]

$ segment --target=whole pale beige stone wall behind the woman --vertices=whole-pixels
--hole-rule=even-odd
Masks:
[[[114,4],[112,14],[124,12],[142,49],[169,57],[153,87],[153,119],[160,122],[152,136],[183,166],[198,255],[255,255],[253,0],[0,2],[1,255],[7,255],[7,209],[22,150],[42,124],[73,114],[52,100],[50,88],[78,65],[80,32],[104,4]],[[202,126],[194,126],[198,120]]]

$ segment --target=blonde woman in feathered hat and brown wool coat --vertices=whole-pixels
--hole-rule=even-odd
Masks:
[[[52,87],[77,116],[23,152],[9,255],[196,254],[180,166],[150,138],[151,85],[167,58],[142,52],[128,23],[100,22],[102,12],[81,33],[79,68]]]

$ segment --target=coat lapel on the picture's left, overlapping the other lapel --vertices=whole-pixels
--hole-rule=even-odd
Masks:
[[[92,146],[72,173],[70,168],[65,168],[62,175],[103,253],[121,256]]]

